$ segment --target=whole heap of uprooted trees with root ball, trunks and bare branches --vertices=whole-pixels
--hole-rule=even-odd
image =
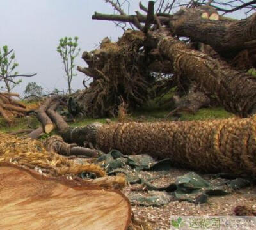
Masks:
[[[95,13],[92,19],[129,22],[140,31],[127,30],[115,43],[105,38],[100,49],[83,53],[88,67],[77,70],[93,82],[74,99],[84,114],[113,116],[122,101],[132,110],[173,87],[182,97],[177,110],[196,112],[218,101],[238,116],[255,113],[255,79],[244,73],[255,66],[255,15],[230,20],[211,3],[201,2],[173,15],[159,8],[154,13],[152,1],[148,8],[140,3],[146,15],[126,15],[118,4],[108,2],[120,15]],[[178,39],[184,36],[189,40]]]

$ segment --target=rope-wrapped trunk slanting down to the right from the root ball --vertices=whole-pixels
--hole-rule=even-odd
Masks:
[[[189,76],[216,96],[228,112],[242,117],[256,112],[256,78],[233,70],[227,63],[212,59],[166,33],[151,33],[159,52],[172,61],[178,75]]]

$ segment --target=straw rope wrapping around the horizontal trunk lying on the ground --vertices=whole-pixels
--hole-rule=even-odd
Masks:
[[[148,153],[205,172],[256,174],[256,117],[103,125],[97,144],[102,151]]]

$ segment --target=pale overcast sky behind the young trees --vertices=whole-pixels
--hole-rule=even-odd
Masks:
[[[138,8],[138,1],[130,2],[132,13]],[[13,89],[18,93],[30,81],[47,91],[67,90],[61,57],[56,52],[61,37],[78,36],[82,54],[95,49],[104,37],[116,40],[123,33],[112,22],[91,19],[94,11],[113,13],[103,0],[0,0],[0,9],[0,46],[15,50],[19,73],[37,73],[35,77],[22,78],[22,84]],[[81,54],[76,64],[84,66]],[[83,79],[84,74],[77,72],[72,88],[83,88]]]

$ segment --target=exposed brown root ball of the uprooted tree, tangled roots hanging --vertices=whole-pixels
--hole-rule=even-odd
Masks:
[[[152,77],[146,71],[143,58],[138,61],[144,40],[141,31],[128,30],[118,42],[106,38],[100,49],[84,52],[83,59],[89,67],[77,70],[93,77],[90,87],[75,98],[84,114],[113,116],[122,102],[138,107],[148,100]]]

